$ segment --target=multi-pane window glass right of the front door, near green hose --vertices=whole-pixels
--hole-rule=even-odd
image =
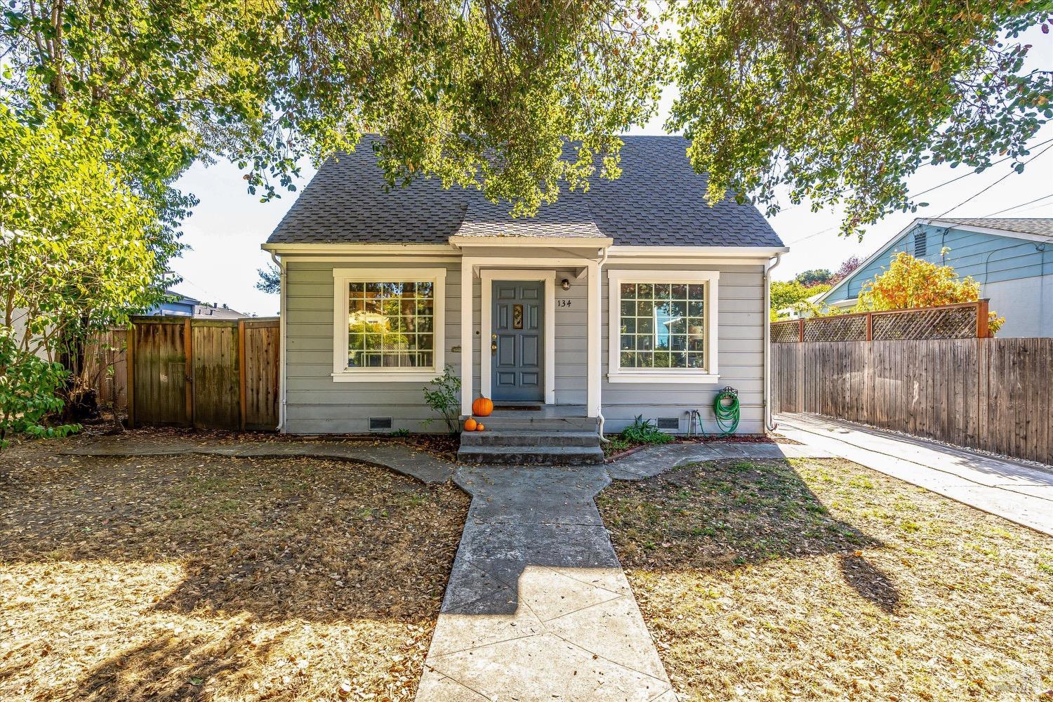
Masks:
[[[706,368],[706,283],[618,284],[622,368]]]

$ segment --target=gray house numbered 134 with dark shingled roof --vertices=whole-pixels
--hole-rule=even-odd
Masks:
[[[448,365],[462,416],[498,405],[491,429],[642,415],[684,433],[699,409],[712,432],[732,386],[738,430],[764,430],[768,270],[787,248],[752,205],[706,203],[684,139],[624,137],[618,180],[517,219],[435,180],[384,192],[375,139],[326,161],[263,245],[283,432],[421,430]]]

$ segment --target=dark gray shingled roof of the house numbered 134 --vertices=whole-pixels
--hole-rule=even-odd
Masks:
[[[562,192],[537,217],[513,219],[479,190],[417,180],[383,192],[365,137],[330,159],[275,228],[270,244],[444,244],[451,236],[610,237],[620,246],[781,246],[753,205],[710,207],[706,177],[688,162],[682,137],[622,137],[621,177]]]

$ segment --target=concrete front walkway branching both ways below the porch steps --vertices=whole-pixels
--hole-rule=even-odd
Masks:
[[[813,446],[653,446],[579,467],[458,466],[403,445],[341,441],[164,443],[115,437],[80,456],[323,458],[450,478],[472,496],[418,702],[639,700],[676,695],[594,502],[615,480],[710,460],[828,457]]]

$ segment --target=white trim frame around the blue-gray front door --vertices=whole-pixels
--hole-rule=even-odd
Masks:
[[[465,263],[465,265],[469,265]],[[479,320],[479,393],[491,397],[493,385],[490,345],[493,334],[495,280],[539,280],[544,283],[544,402],[556,403],[556,272],[537,268],[483,268]],[[470,403],[471,407],[471,403]],[[470,413],[471,414],[471,413]]]

